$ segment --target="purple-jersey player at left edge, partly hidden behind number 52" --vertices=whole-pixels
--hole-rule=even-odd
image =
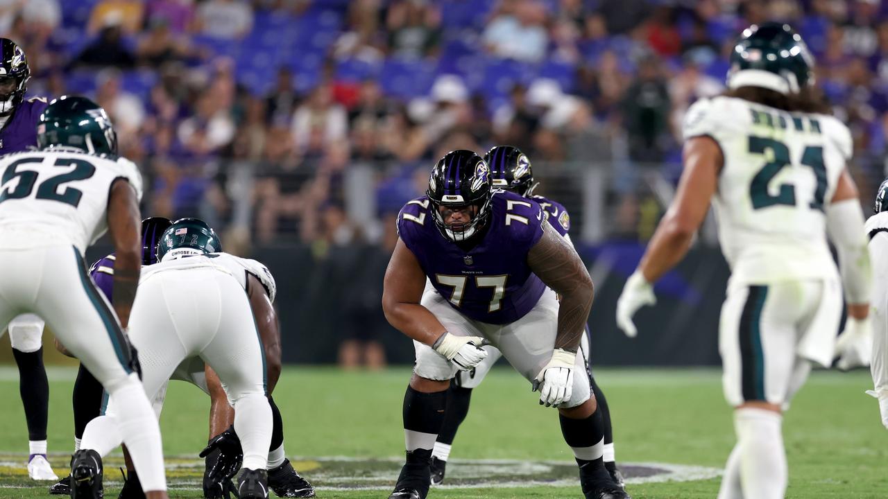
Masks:
[[[18,153],[37,145],[37,120],[44,98],[25,99],[31,70],[25,52],[9,38],[0,38],[0,154]],[[21,402],[28,421],[28,476],[59,479],[46,460],[46,424],[50,386],[44,368],[44,321],[23,313],[9,323],[12,355],[19,366]]]

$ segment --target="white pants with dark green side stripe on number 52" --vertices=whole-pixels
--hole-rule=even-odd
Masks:
[[[132,370],[117,316],[74,246],[0,249],[0,325],[20,313],[42,317],[59,342],[121,401],[115,432],[130,449],[145,490],[165,490],[160,427]]]

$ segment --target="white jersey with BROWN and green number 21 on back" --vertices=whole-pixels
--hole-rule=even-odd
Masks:
[[[716,97],[688,110],[684,136],[708,136],[724,155],[713,204],[732,280],[836,275],[824,210],[852,155],[844,123]]]

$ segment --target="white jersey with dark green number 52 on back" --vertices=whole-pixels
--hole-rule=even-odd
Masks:
[[[0,158],[0,248],[72,244],[83,251],[107,231],[115,179],[127,180],[139,199],[142,178],[124,158],[75,150],[33,151]]]

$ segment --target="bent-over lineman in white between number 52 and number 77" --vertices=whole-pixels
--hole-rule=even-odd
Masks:
[[[250,261],[219,249],[216,233],[202,220],[173,222],[158,243],[159,263],[142,272],[130,336],[158,415],[163,395],[157,396],[179,366],[200,359],[216,372],[234,408],[243,450],[237,495],[264,499],[272,409],[266,399],[265,351],[244,292]],[[106,415],[87,425],[82,445],[100,455],[120,445],[115,418],[121,410],[111,400]]]

